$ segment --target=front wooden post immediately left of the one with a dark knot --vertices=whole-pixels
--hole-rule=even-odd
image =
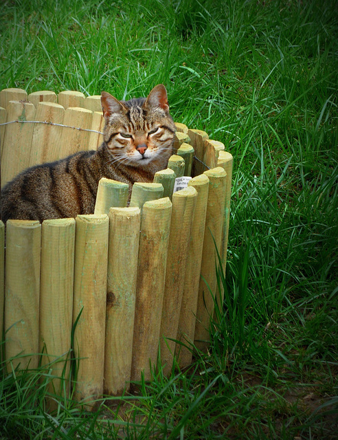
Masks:
[[[108,259],[107,215],[76,217],[73,323],[78,362],[74,397],[90,405],[102,396]]]

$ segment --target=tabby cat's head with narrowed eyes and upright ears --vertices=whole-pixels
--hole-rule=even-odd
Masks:
[[[164,162],[166,167],[175,126],[164,85],[154,87],[147,98],[128,101],[119,101],[102,91],[101,104],[106,121],[104,142],[116,163],[139,167]]]

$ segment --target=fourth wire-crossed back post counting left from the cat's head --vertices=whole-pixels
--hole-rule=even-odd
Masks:
[[[32,102],[10,101],[7,107],[7,122],[22,120],[32,121],[35,107]],[[30,166],[34,124],[9,124],[5,129],[1,157],[1,185],[12,180],[17,174]],[[15,160],[13,160],[15,157]]]

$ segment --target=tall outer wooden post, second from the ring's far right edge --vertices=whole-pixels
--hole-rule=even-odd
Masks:
[[[205,175],[209,178],[210,184],[207,197],[201,280],[199,283],[199,300],[197,303],[194,335],[196,347],[203,351],[207,349],[210,339],[210,318],[214,315],[214,301],[216,300],[216,265],[218,265],[215,243],[218,252],[220,252],[227,173],[225,173],[223,168],[218,167],[205,171]]]

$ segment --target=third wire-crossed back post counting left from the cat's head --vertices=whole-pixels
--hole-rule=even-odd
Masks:
[[[38,102],[36,106],[37,121],[63,124],[65,109],[55,102]],[[63,127],[57,125],[34,124],[30,166],[54,162],[60,159],[60,138]]]

